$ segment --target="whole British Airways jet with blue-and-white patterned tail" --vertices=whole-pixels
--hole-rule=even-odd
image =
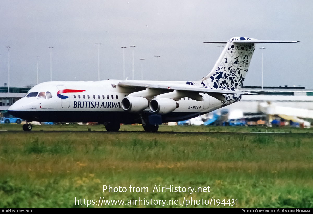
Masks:
[[[30,89],[8,109],[26,120],[54,123],[95,122],[116,132],[120,124],[142,124],[146,132],[156,132],[159,124],[177,122],[207,114],[238,102],[241,95],[252,94],[241,87],[255,49],[268,41],[233,37],[225,44],[213,69],[199,81],[51,81]]]

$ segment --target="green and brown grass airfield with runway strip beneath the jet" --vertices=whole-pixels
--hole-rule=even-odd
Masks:
[[[188,200],[187,207],[313,207],[313,135],[306,134],[312,129],[164,125],[145,133],[123,125],[109,133],[102,125],[42,125],[23,132],[1,124],[0,130],[11,130],[0,131],[0,207],[87,207],[87,200],[88,207],[162,207],[164,200],[163,207],[186,207]],[[130,192],[131,185],[140,188]],[[181,191],[153,191],[165,186]],[[75,205],[75,197],[85,205]],[[98,206],[103,198],[125,201]],[[138,205],[138,198],[158,204]]]

